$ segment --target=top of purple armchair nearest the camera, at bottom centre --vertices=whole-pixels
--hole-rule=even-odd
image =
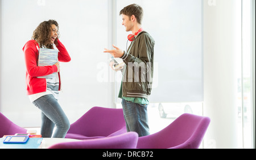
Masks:
[[[121,135],[74,142],[61,142],[49,146],[49,149],[134,149],[137,146],[138,133],[126,132]]]

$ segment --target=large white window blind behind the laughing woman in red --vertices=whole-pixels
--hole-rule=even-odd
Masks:
[[[39,127],[40,110],[26,95],[22,47],[44,20],[59,23],[71,62],[60,63],[59,103],[70,122],[93,106],[113,107],[112,84],[101,83],[97,64],[108,60],[109,1],[2,0],[1,112],[22,127]],[[107,69],[108,70],[108,69]]]

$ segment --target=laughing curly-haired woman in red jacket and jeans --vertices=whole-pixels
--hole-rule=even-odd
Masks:
[[[64,138],[70,127],[69,120],[57,102],[60,90],[59,62],[52,66],[37,66],[39,48],[59,50],[59,62],[69,62],[68,51],[59,40],[59,25],[55,20],[43,21],[35,29],[32,40],[24,47],[26,63],[26,85],[30,101],[42,111],[42,137]],[[58,72],[52,79],[38,76]],[[56,126],[54,135],[53,128]]]

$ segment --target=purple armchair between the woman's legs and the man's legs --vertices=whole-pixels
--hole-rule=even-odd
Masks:
[[[92,107],[71,124],[65,138],[97,139],[126,133],[125,118],[122,109]]]

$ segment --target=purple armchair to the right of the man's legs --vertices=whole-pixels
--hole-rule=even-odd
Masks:
[[[137,148],[143,149],[197,149],[207,131],[210,119],[183,114],[169,126],[152,135],[139,137]]]

